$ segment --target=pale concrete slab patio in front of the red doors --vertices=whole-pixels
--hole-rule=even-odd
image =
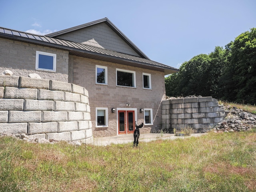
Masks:
[[[140,134],[139,142],[150,142],[155,140],[173,140],[177,138],[188,138],[188,137],[198,137],[202,134],[196,133],[191,134],[190,136],[174,136],[174,134],[160,134],[160,133],[147,133],[147,134]],[[112,137],[98,137],[93,138],[93,144],[97,146],[106,146],[110,144],[125,144],[125,143],[132,143],[134,140],[133,134],[128,135],[118,135]]]

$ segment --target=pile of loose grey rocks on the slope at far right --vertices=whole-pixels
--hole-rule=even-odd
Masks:
[[[215,132],[248,131],[256,127],[256,115],[236,107],[227,107],[230,114],[216,125]]]

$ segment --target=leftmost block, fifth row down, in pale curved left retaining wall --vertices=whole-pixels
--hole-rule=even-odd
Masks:
[[[8,134],[26,134],[27,126],[27,123],[0,123],[0,132]]]

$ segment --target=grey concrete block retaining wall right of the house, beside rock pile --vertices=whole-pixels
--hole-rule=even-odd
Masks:
[[[204,132],[224,120],[227,112],[212,97],[176,98],[162,101],[162,129],[193,128]]]

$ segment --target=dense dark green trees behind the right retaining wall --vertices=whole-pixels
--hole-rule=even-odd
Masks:
[[[256,104],[256,28],[210,54],[194,56],[165,78],[167,96],[202,95]]]

